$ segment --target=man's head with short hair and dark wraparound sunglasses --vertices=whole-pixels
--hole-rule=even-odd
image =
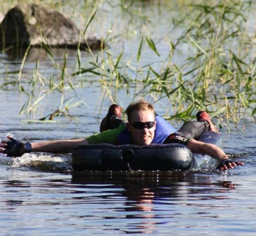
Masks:
[[[155,135],[155,111],[152,104],[139,100],[130,104],[126,109],[128,131],[131,133],[133,143],[148,145]]]

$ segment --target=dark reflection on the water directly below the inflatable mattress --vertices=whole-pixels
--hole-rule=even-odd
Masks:
[[[109,186],[111,193],[117,194],[116,197],[121,193],[122,197],[126,198],[126,206],[129,207],[125,208],[125,211],[151,211],[156,202],[166,204],[165,200],[168,200],[168,204],[176,204],[180,198],[206,200],[223,197],[228,199],[226,195],[214,196],[213,193],[224,193],[234,190],[237,186],[227,180],[214,182],[210,176],[200,176],[194,172],[119,173],[113,175],[113,173],[106,172],[90,174],[88,172],[86,174],[73,172],[71,183],[75,184],[76,188],[79,185],[79,189],[83,189],[85,192],[92,187],[91,185],[94,188],[101,188],[102,185],[105,185],[104,188]],[[115,192],[115,189],[120,188],[123,191]],[[79,191],[79,193],[81,192]]]

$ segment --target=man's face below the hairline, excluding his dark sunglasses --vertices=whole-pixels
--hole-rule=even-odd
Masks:
[[[130,123],[127,123],[127,129],[131,133],[133,143],[135,145],[148,145],[152,142],[155,135],[155,125],[150,129],[145,126],[143,129],[135,129],[134,122],[153,122],[155,121],[155,114],[151,110],[133,111],[130,117]]]

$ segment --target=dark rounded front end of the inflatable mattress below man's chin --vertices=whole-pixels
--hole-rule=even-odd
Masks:
[[[74,170],[185,170],[194,162],[182,144],[83,145],[72,153]]]

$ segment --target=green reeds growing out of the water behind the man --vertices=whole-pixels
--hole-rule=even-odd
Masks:
[[[168,38],[169,54],[166,58],[161,55],[156,43],[161,38],[155,40],[154,32],[150,33],[147,29],[151,26],[150,21],[143,20],[140,22],[143,22],[144,31],[141,31],[136,51],[133,52],[137,56],[136,61],[131,59],[127,62],[123,48],[115,55],[111,47],[98,52],[89,48],[91,60],[82,64],[78,46],[74,71],[68,74],[68,56],[64,56],[60,67],[54,62],[50,46],[43,44],[42,49],[49,55],[53,66],[58,68],[59,76],[44,78],[40,75],[38,62],[30,82],[32,90],[28,92],[23,86],[23,92],[28,94],[29,99],[21,112],[33,111],[35,114],[36,107],[44,97],[58,91],[61,93],[59,108],[43,116],[43,120],[51,120],[63,112],[69,117],[70,107],[65,105],[65,91],[71,89],[76,97],[76,87],[83,86],[81,75],[93,75],[103,90],[98,102],[100,106],[105,99],[122,103],[118,91],[126,88],[131,100],[144,97],[161,106],[167,119],[188,120],[194,118],[198,110],[206,110],[212,117],[219,118],[221,124],[238,125],[242,119],[253,120],[256,114],[256,43],[254,36],[249,35],[245,28],[251,6],[250,1],[229,0],[184,3],[180,14],[171,21],[173,27],[183,29],[183,32],[175,39]],[[131,12],[134,11],[132,5],[120,1],[119,10],[133,16],[132,22],[136,20],[137,16]],[[92,11],[81,37],[85,38],[88,26],[97,18],[97,14],[95,10]],[[105,38],[110,45],[115,40],[109,34]],[[175,63],[174,57],[184,46],[188,48],[187,54],[183,55],[182,62]],[[145,64],[144,52],[149,50],[155,53],[157,61]],[[37,93],[39,96],[35,97],[36,85],[38,91],[43,83],[48,85],[47,92]]]

